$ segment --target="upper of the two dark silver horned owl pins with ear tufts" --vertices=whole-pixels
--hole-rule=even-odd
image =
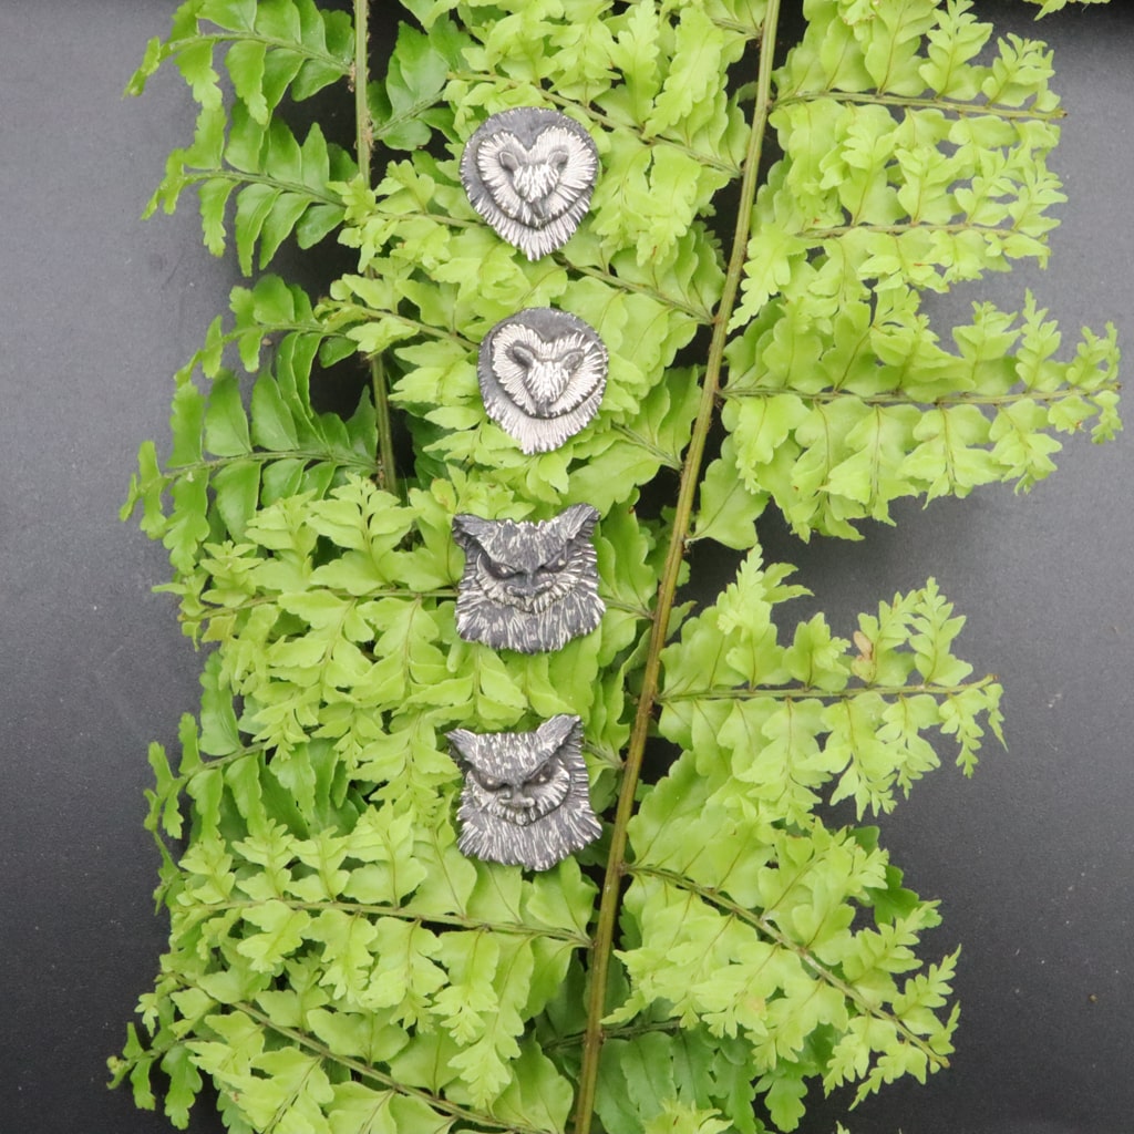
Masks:
[[[576,503],[539,523],[455,516],[465,552],[457,633],[493,650],[559,650],[602,619],[591,533],[599,513]]]

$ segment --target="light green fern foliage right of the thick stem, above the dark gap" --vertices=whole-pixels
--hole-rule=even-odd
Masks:
[[[778,76],[785,156],[753,215],[723,421],[754,497],[804,536],[853,539],[900,497],[1030,488],[1052,433],[1111,437],[1118,353],[1108,328],[1057,361],[1031,295],[1021,314],[975,305],[953,349],[922,310],[924,291],[1047,261],[1065,200],[1050,52],[1008,36],[980,62],[991,28],[968,0],[841,7],[805,5]]]

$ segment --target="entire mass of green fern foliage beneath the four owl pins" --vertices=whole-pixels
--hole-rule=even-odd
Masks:
[[[1056,434],[1119,428],[1111,329],[1068,356],[1030,294],[951,329],[922,305],[1046,260],[1049,52],[993,46],[968,0],[807,0],[753,87],[775,0],[403,6],[382,79],[314,0],[188,0],[130,84],[170,60],[200,104],[150,211],[195,185],[205,243],[248,274],[332,230],[358,261],[314,303],[276,276],[236,288],[176,375],[168,457],[139,454],[124,514],[168,548],[162,590],[206,660],[179,752],[150,750],[170,940],[115,1081],[153,1108],[160,1072],[178,1127],[211,1081],[238,1134],[771,1134],[814,1086],[853,1103],[923,1080],[953,1049],[957,954],[923,959],[936,903],[862,824],[946,754],[971,773],[1001,691],[955,652],[932,579],[856,626],[785,628],[804,591],[755,523],[771,502],[804,536],[857,538],[892,500],[1027,488]],[[354,84],[357,164],[293,125],[335,85],[357,105]],[[589,214],[536,263],[457,175],[517,105],[562,110],[601,155]],[[729,261],[720,191],[765,125],[781,156],[742,191]],[[476,378],[526,306],[610,353],[595,421],[536,457]],[[324,372],[358,361],[357,408],[319,408]],[[397,477],[391,408],[414,442]],[[695,508],[658,503],[678,479]],[[602,517],[598,631],[550,654],[463,642],[454,516],[572,501]],[[743,555],[670,618],[687,541]],[[642,782],[638,704],[676,751]],[[602,838],[544,873],[466,858],[445,734],[556,713],[584,721]]]

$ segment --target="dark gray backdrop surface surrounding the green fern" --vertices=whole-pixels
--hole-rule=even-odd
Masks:
[[[0,1134],[170,1128],[103,1084],[164,943],[145,748],[174,745],[202,660],[150,593],[162,549],[116,513],[235,281],[192,206],[138,221],[192,129],[172,73],[120,98],[172,7],[0,0]],[[982,10],[1033,29],[1018,0]],[[1030,284],[1068,337],[1112,319],[1129,345],[1134,10],[1066,11],[1038,34],[1058,49],[1070,203],[1050,270],[996,296],[1018,306]],[[964,1015],[953,1069],[861,1108],[856,1134],[1134,1128],[1132,474],[1128,440],[1078,442],[1031,496],[903,507],[861,544],[763,527],[843,634],[934,575],[970,616],[962,652],[1008,689],[1008,751],[971,782],[942,770],[883,820],[907,882],[942,899],[930,949],[964,942]]]

